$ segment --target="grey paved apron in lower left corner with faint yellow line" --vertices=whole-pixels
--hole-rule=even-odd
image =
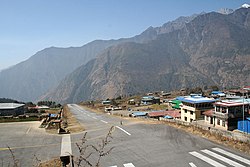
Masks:
[[[47,134],[38,128],[40,122],[20,122],[0,124],[0,166],[12,166],[11,147],[20,166],[29,167],[36,164],[34,155],[39,160],[58,157],[61,149],[61,136]]]

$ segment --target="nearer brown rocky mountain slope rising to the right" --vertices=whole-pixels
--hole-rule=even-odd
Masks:
[[[250,9],[208,13],[144,44],[106,49],[79,67],[46,98],[105,99],[154,90],[250,82]]]

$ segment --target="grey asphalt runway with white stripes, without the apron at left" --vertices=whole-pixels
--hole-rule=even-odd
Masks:
[[[72,113],[88,131],[89,142],[96,144],[111,126],[116,126],[114,150],[101,161],[103,167],[225,167],[250,166],[250,157],[238,151],[188,134],[162,124],[144,124],[97,114],[75,104],[69,105]],[[72,151],[78,154],[74,143],[83,134],[71,135]]]

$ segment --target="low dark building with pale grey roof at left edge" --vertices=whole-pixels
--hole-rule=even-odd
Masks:
[[[0,103],[0,116],[18,116],[24,114],[24,104]]]

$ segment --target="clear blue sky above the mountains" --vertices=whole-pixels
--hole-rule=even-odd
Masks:
[[[179,16],[250,0],[0,0],[0,70],[51,46],[140,34]]]

